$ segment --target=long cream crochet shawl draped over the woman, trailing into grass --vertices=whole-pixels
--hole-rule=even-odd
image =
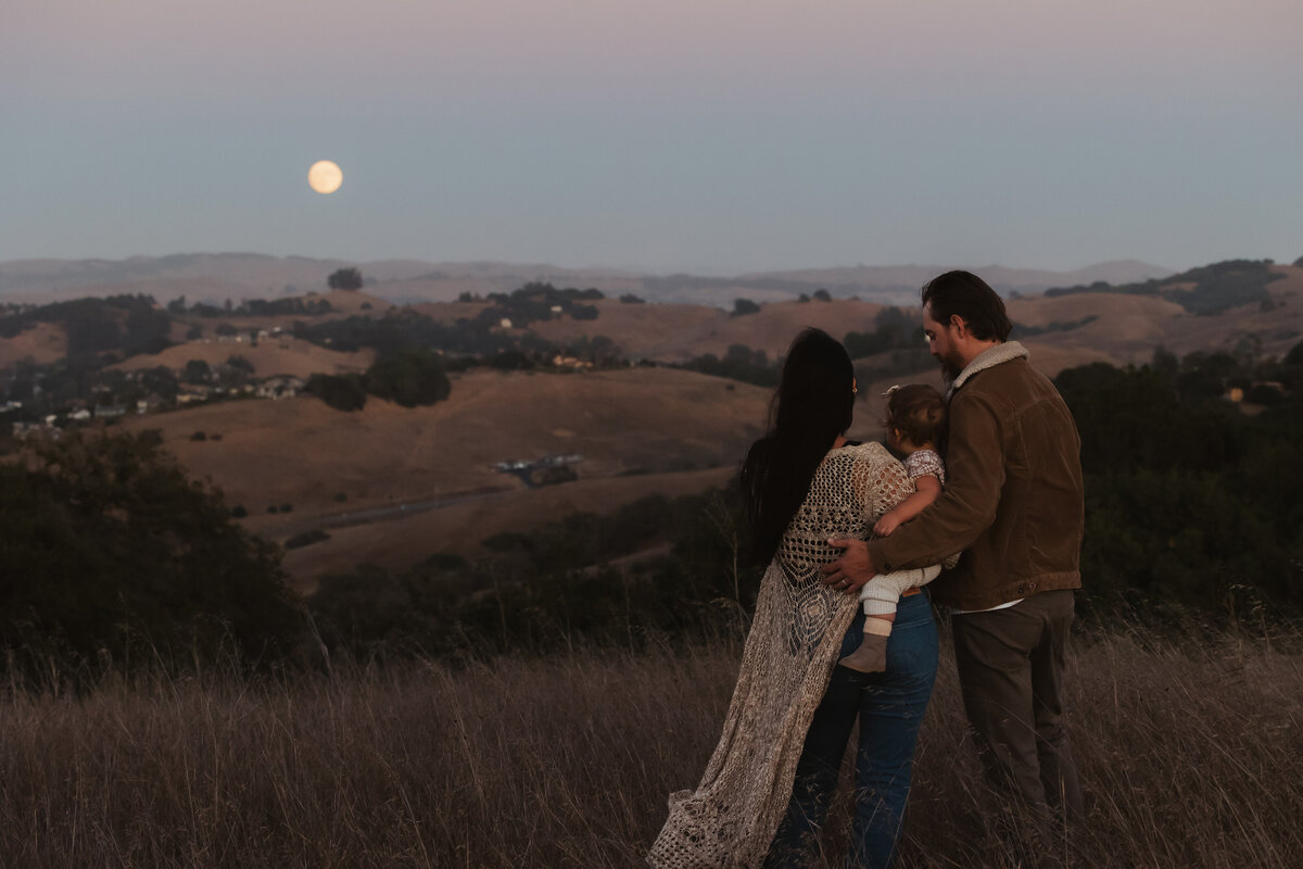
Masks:
[[[830,537],[868,539],[913,492],[880,443],[829,452],[765,571],[719,745],[693,791],[670,795],[655,869],[758,866],[787,810],[796,761],[859,597],[821,581]]]

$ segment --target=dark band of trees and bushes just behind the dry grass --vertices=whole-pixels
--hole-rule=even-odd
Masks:
[[[1081,434],[1088,615],[1303,608],[1303,344],[1282,360],[1158,350],[1055,383]],[[1251,413],[1226,397],[1255,387],[1272,397]],[[360,655],[732,631],[764,567],[741,555],[741,516],[736,486],[652,496],[498,534],[472,560],[344,569],[300,601],[276,547],[233,524],[222,494],[188,479],[155,435],[72,434],[0,464],[0,661],[184,668],[233,648],[267,666],[313,648],[310,624]]]

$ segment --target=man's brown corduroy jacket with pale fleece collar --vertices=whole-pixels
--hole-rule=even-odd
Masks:
[[[946,489],[869,542],[874,564],[886,573],[963,550],[930,586],[960,610],[1081,588],[1081,440],[1058,390],[1009,341],[973,360],[950,392]]]

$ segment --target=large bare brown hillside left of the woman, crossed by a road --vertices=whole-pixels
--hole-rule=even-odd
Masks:
[[[481,539],[550,521],[558,511],[605,512],[652,492],[722,485],[760,435],[767,401],[766,390],[670,369],[481,370],[457,375],[451,397],[426,408],[373,397],[364,410],[343,413],[309,397],[248,400],[130,417],[122,426],[159,429],[192,476],[210,478],[228,504],[248,509],[250,530],[280,542],[343,513],[481,495],[332,530],[330,542],[287,560],[310,585],[366,559],[474,554]],[[194,440],[197,431],[206,439]],[[529,490],[494,468],[569,453],[582,461],[579,481],[563,486]]]

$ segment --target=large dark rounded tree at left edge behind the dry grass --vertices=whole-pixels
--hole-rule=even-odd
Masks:
[[[266,663],[296,642],[276,547],[160,442],[68,433],[30,464],[0,465],[0,648],[18,666],[107,655],[180,668],[231,644]]]

